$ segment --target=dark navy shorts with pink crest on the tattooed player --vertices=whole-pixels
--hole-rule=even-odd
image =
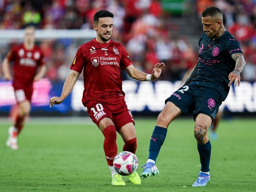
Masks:
[[[168,101],[178,106],[183,114],[194,111],[194,120],[198,114],[202,113],[210,116],[212,121],[222,103],[221,95],[217,90],[191,84],[175,91],[165,100],[165,104]]]

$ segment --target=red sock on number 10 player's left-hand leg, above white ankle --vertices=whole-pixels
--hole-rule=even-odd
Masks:
[[[103,130],[103,135],[105,137],[103,148],[105,151],[107,163],[109,166],[113,166],[113,160],[117,154],[116,127],[114,125],[106,127]]]

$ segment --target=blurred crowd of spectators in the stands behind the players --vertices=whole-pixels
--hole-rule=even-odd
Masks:
[[[219,7],[226,29],[241,43],[247,66],[242,80],[256,81],[256,0],[179,0],[180,14],[167,10],[168,0],[0,0],[0,29],[22,29],[34,25],[39,29],[92,29],[96,11],[114,13],[112,40],[122,43],[136,68],[151,73],[155,63],[166,67],[161,80],[181,80],[196,64],[197,45],[178,32],[172,21],[191,19],[199,40],[203,34],[201,13],[209,6]],[[182,25],[182,23],[179,23]],[[194,29],[194,28],[193,28]],[[191,35],[191,37],[193,37]],[[76,39],[43,40],[38,45],[47,59],[47,77],[63,80],[79,45]],[[0,45],[0,62],[14,43]],[[7,47],[6,47],[7,46]],[[129,78],[124,76],[124,78]]]

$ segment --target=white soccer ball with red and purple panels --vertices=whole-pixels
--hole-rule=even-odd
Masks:
[[[114,158],[113,165],[119,175],[130,175],[138,168],[138,158],[129,151],[122,151]]]

